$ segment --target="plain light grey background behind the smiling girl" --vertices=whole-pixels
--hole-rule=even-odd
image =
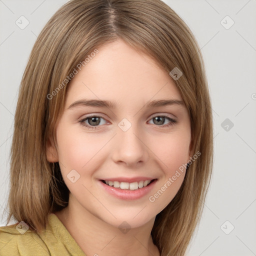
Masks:
[[[0,225],[20,79],[36,36],[65,2],[0,0]],[[164,2],[198,40],[212,99],[213,176],[188,255],[256,255],[256,0]],[[21,15],[24,29],[15,23]]]

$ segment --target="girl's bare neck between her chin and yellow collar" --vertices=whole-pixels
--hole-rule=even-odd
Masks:
[[[86,255],[159,255],[150,234],[154,218],[142,226],[121,229],[99,219],[72,200],[66,208],[54,213]]]

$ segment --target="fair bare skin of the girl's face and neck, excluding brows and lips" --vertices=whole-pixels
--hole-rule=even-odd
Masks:
[[[49,139],[47,159],[58,161],[69,194],[68,206],[54,212],[87,255],[159,255],[150,235],[154,219],[177,193],[185,171],[157,198],[148,197],[191,156],[189,114],[182,104],[148,108],[151,100],[182,97],[168,72],[152,58],[134,50],[123,40],[105,44],[68,85],[64,111],[57,123],[57,148]],[[68,106],[79,99],[116,102],[116,109]],[[52,99],[54,100],[54,98]],[[79,120],[101,116],[93,128]],[[177,122],[155,116],[168,115]],[[90,116],[91,117],[91,116]],[[118,123],[126,118],[131,127]],[[159,120],[158,120],[159,121]],[[93,122],[87,119],[87,125]],[[67,174],[80,177],[72,183]],[[136,200],[123,200],[105,192],[98,179],[149,176],[157,178],[152,190]],[[122,233],[118,226],[131,227]]]

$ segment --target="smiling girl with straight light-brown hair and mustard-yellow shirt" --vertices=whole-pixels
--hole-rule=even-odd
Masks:
[[[22,125],[20,125],[22,124]],[[198,45],[160,0],[71,0],[22,77],[1,255],[184,255],[212,169]]]

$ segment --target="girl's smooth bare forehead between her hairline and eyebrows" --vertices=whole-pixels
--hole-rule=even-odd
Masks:
[[[68,84],[66,105],[79,98],[109,99],[120,104],[155,98],[182,100],[168,72],[123,40],[97,50]]]

